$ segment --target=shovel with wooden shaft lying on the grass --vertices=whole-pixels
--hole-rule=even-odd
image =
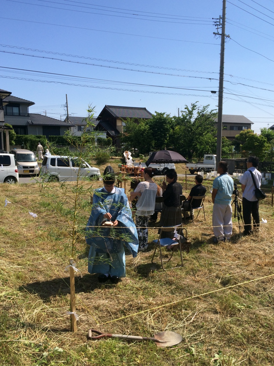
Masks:
[[[99,336],[92,336],[92,332],[99,334]],[[159,332],[154,335],[154,337],[140,337],[140,336],[127,336],[123,334],[106,334],[101,333],[95,329],[88,329],[88,339],[100,339],[103,337],[113,337],[118,339],[126,339],[132,341],[153,341],[156,343],[158,347],[170,347],[178,344],[182,341],[182,336],[178,333],[170,332],[170,330],[166,330],[165,332]]]

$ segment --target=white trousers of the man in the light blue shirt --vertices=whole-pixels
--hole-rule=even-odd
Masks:
[[[214,203],[212,212],[212,225],[214,236],[219,240],[230,238],[232,235],[232,207]]]

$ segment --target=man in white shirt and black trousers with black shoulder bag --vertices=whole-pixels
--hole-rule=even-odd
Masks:
[[[241,190],[243,192],[243,219],[244,232],[243,236],[251,235],[259,231],[259,201],[265,198],[264,193],[260,190],[262,181],[261,173],[256,169],[259,159],[250,156],[247,159],[247,171],[241,176]],[[251,214],[253,218],[253,232],[251,231]]]

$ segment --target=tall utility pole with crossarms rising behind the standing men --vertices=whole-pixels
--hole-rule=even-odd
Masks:
[[[226,0],[222,0],[222,16],[220,16],[219,22],[215,22],[217,26],[217,32],[213,32],[213,34],[221,36],[216,162],[221,161],[222,157],[222,101],[224,94],[225,37],[229,37],[229,35],[227,36],[225,34],[225,7]],[[219,33],[219,27],[221,27],[222,33]]]

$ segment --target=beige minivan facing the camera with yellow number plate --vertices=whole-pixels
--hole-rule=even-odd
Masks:
[[[39,167],[34,153],[26,149],[13,149],[18,173],[22,175],[38,175]]]

